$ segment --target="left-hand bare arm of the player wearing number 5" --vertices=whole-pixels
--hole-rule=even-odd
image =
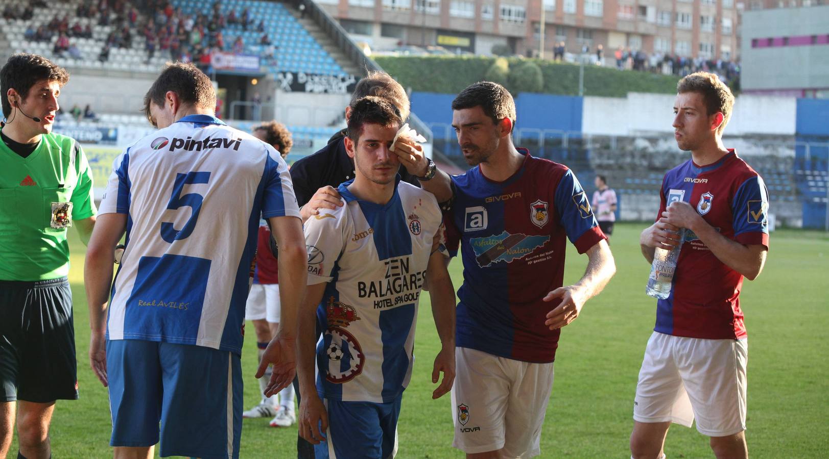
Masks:
[[[87,219],[88,220],[88,219]],[[124,236],[127,214],[104,213],[95,222],[84,264],[86,301],[90,309],[90,366],[106,387],[106,308],[112,286],[112,261],[115,245]],[[79,226],[80,228],[80,226]]]

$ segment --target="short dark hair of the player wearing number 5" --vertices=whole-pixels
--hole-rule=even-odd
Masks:
[[[178,95],[182,104],[199,108],[216,108],[216,91],[213,82],[196,65],[182,62],[167,63],[161,74],[144,95],[144,114],[150,122],[150,103],[164,106],[167,91]]]

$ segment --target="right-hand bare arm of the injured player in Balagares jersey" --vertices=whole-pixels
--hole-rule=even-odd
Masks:
[[[435,236],[436,242],[439,242],[439,237],[440,233]],[[429,256],[426,280],[430,286],[434,326],[440,337],[440,351],[434,358],[432,383],[437,384],[440,373],[444,373],[444,380],[432,392],[432,399],[439,399],[452,390],[455,380],[455,289],[446,269],[446,256],[437,250],[437,244]]]

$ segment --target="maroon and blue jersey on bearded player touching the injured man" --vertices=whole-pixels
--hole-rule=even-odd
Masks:
[[[444,213],[448,246],[461,241],[455,342],[518,361],[555,360],[560,330],[542,301],[564,280],[566,238],[579,253],[604,239],[579,180],[564,165],[534,158],[494,182],[479,167],[452,177],[453,204]]]

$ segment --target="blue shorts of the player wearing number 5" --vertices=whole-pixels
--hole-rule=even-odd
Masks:
[[[106,343],[114,447],[158,443],[162,457],[239,457],[240,356],[209,347],[112,340]]]

